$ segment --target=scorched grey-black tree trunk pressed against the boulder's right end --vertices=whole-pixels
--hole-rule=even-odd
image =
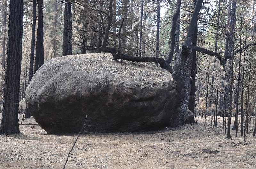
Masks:
[[[192,14],[188,33],[180,53],[177,57],[176,63],[173,67],[172,77],[177,84],[177,91],[180,94],[178,103],[175,109],[175,114],[170,121],[171,126],[177,126],[184,123],[184,116],[188,109],[188,102],[190,97],[190,74],[193,63],[193,53],[190,49],[192,45],[193,35],[197,25],[197,18],[202,7],[203,0],[197,0],[194,12]]]

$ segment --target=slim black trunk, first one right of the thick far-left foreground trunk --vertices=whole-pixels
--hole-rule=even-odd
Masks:
[[[35,32],[36,32],[36,0],[33,0],[33,18],[32,18],[32,35],[31,35],[32,37],[31,37],[28,83],[31,81],[31,79],[33,77],[34,53],[35,53]]]

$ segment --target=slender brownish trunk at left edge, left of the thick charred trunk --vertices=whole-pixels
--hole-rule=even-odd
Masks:
[[[6,15],[7,15],[7,0],[3,0],[3,47],[2,47],[2,68],[5,69],[5,45],[6,45]]]

